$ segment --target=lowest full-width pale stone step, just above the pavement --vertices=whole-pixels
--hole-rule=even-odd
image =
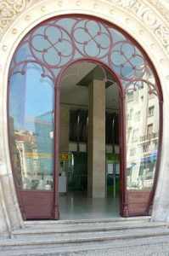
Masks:
[[[83,232],[79,233],[65,233],[54,234],[53,236],[31,236],[29,238],[14,238],[0,241],[1,250],[7,248],[20,248],[20,247],[47,247],[58,244],[63,245],[75,245],[77,243],[90,243],[99,241],[120,241],[125,239],[135,239],[143,237],[155,237],[155,236],[169,236],[169,230],[167,228],[158,229],[141,229],[137,230],[113,230],[113,231],[98,231],[98,232]]]

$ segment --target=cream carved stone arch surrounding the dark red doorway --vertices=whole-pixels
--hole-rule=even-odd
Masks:
[[[13,5],[9,5],[12,4]],[[0,219],[3,225],[0,230],[3,234],[9,235],[10,230],[23,226],[24,223],[20,217],[20,209],[15,195],[14,181],[11,172],[9,154],[8,154],[8,131],[7,131],[7,84],[8,84],[8,67],[11,61],[14,49],[20,43],[32,27],[36,26],[42,20],[46,20],[56,15],[65,14],[84,14],[100,17],[121,27],[128,34],[135,38],[149,55],[153,62],[156,72],[161,81],[161,88],[164,95],[164,116],[168,109],[169,98],[169,26],[167,25],[168,12],[161,9],[163,6],[157,4],[157,8],[151,5],[155,1],[138,1],[138,0],[45,0],[45,1],[3,1],[1,8],[8,10],[8,6],[12,9],[7,11],[7,20],[9,23],[2,29],[3,38],[1,40],[0,49]],[[8,5],[4,5],[8,3]],[[157,2],[156,2],[157,3]],[[2,5],[3,4],[3,5]],[[17,5],[18,4],[18,5]],[[159,8],[159,10],[158,10]],[[167,13],[166,13],[167,12]],[[12,15],[13,14],[13,15]],[[12,15],[12,17],[10,16]],[[163,17],[163,16],[164,17]],[[3,16],[5,20],[5,16]],[[5,22],[5,21],[4,21]],[[2,27],[0,25],[0,27]],[[167,194],[169,188],[167,185],[167,166],[169,160],[167,152],[169,138],[167,132],[169,130],[169,119],[164,118],[162,158],[160,166],[160,178],[155,194],[155,202],[153,208],[152,219],[166,221],[169,218],[169,199]],[[8,188],[8,189],[7,189]]]

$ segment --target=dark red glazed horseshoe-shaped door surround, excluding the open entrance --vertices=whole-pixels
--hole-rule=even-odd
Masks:
[[[139,45],[116,26],[92,17],[72,15],[47,20],[36,26],[21,41],[11,61],[8,126],[15,186],[24,218],[59,218],[57,177],[59,83],[62,73],[70,63],[88,59],[110,67],[115,79],[121,84],[121,214],[124,217],[149,214],[158,175],[155,170],[158,169],[156,163],[158,163],[157,153],[159,155],[160,152],[161,129],[158,129],[158,125],[153,128],[152,124],[149,124],[148,128],[143,119],[142,133],[137,130],[139,125],[132,131],[132,137],[138,133],[137,137],[143,137],[144,143],[147,143],[147,140],[149,143],[155,138],[155,147],[154,151],[151,148],[147,159],[144,157],[144,151],[142,152],[140,149],[137,154],[138,160],[134,161],[134,165],[129,164],[128,166],[127,163],[131,160],[128,160],[127,150],[129,147],[128,144],[126,147],[125,130],[128,128],[127,133],[131,133],[131,126],[126,127],[127,100],[132,97],[130,96],[131,91],[132,95],[136,95],[135,91],[138,92],[146,87],[148,89],[146,98],[148,98],[149,92],[149,95],[156,95],[160,98],[159,102],[161,103],[161,90],[155,70]],[[46,94],[45,90],[40,89],[42,83],[43,87],[50,88],[46,89]],[[20,85],[17,86],[17,84]],[[22,84],[31,85],[22,86]],[[29,90],[31,91],[29,92]],[[13,96],[14,94],[15,96]],[[139,92],[137,95],[138,102],[144,99]],[[133,98],[135,99],[135,96]],[[23,107],[25,102],[29,103]],[[32,102],[36,102],[38,111],[34,114],[33,119],[28,115],[25,120],[26,109],[31,109],[29,105],[35,109],[35,104]],[[43,109],[43,102],[48,102],[47,109]],[[142,109],[140,103],[138,107]],[[146,105],[146,115],[147,111],[151,113],[150,108],[153,112],[153,107],[149,104]],[[130,107],[129,109],[131,110]],[[41,110],[43,113],[40,113]],[[159,113],[158,109],[157,113]],[[34,124],[31,132],[28,129],[31,126],[27,125],[27,121]],[[159,122],[157,123],[159,124]],[[48,126],[45,132],[42,128],[43,125]],[[48,131],[48,135],[46,131]],[[158,140],[159,131],[160,140]],[[148,135],[149,137],[146,137]],[[39,140],[39,137],[43,139]],[[43,150],[44,148],[45,150]],[[132,152],[135,149],[130,148],[130,150]],[[155,157],[153,158],[153,156]],[[154,165],[143,164],[144,162],[149,163],[149,161],[154,161]],[[144,171],[146,169],[151,170],[150,173],[148,170]],[[150,183],[147,182],[149,184],[147,187],[143,182],[146,177],[150,177],[148,179],[151,180]]]

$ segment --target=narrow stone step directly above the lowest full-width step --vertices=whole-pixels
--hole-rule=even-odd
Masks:
[[[145,230],[145,229],[160,229],[165,228],[166,223],[153,223],[153,222],[117,222],[117,223],[93,223],[93,224],[53,224],[53,226],[41,226],[41,227],[27,227],[25,229],[14,230],[12,236],[14,237],[31,237],[31,236],[70,236],[73,234],[84,233],[97,233],[107,231],[124,231],[124,230]]]

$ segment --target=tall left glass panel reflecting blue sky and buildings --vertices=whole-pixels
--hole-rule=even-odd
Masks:
[[[53,189],[54,84],[29,64],[9,87],[9,128],[19,189]]]

